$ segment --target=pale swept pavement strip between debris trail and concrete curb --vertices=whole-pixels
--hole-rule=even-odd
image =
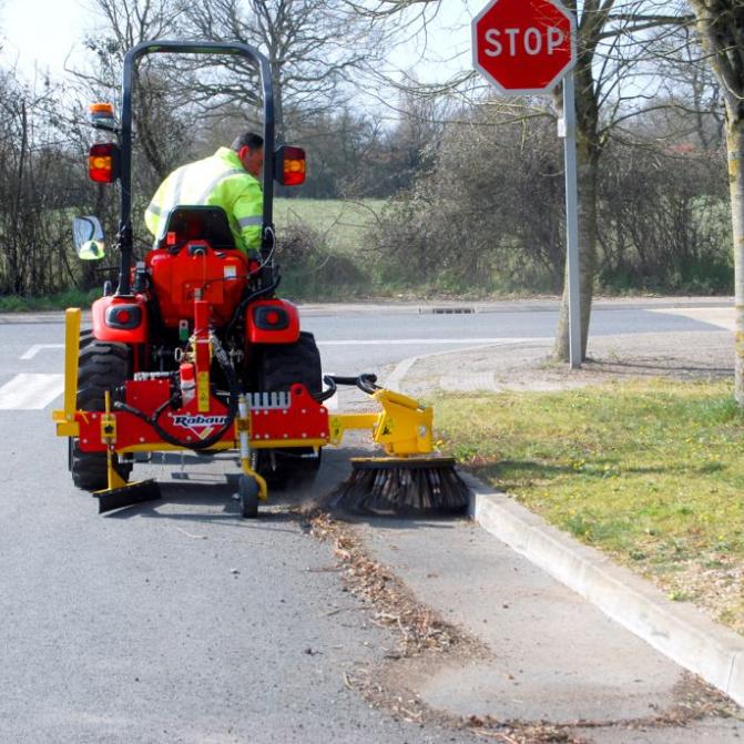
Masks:
[[[707,714],[717,699],[706,685],[476,524],[373,520],[363,531],[419,601],[490,650],[434,671],[399,662],[431,707],[563,724],[598,744],[744,741],[741,720]]]

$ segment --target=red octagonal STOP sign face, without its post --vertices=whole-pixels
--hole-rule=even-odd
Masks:
[[[575,21],[560,0],[491,0],[472,42],[476,70],[501,93],[548,93],[575,62]]]

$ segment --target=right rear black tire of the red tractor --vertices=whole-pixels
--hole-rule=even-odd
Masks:
[[[307,332],[302,332],[295,344],[265,346],[258,367],[259,390],[286,391],[297,383],[302,383],[310,395],[323,390],[320,354],[315,336]],[[253,452],[253,467],[271,488],[298,486],[315,478],[320,455],[318,450],[316,456],[312,447],[257,449]]]

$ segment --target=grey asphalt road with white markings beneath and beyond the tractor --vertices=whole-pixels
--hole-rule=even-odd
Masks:
[[[549,339],[556,318],[320,309],[304,327],[325,369],[350,374],[442,347]],[[139,466],[165,500],[98,517],[50,420],[63,326],[19,320],[0,324],[0,742],[470,741],[396,721],[346,685],[391,638],[282,497],[257,522],[238,518],[232,460]],[[592,322],[602,335],[707,327],[643,308],[595,310]],[[337,477],[324,468],[318,488]]]

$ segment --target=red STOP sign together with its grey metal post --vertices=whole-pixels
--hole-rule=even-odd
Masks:
[[[560,0],[491,0],[472,21],[473,67],[502,95],[547,95],[563,80],[569,354],[581,366],[573,75],[575,18]]]

